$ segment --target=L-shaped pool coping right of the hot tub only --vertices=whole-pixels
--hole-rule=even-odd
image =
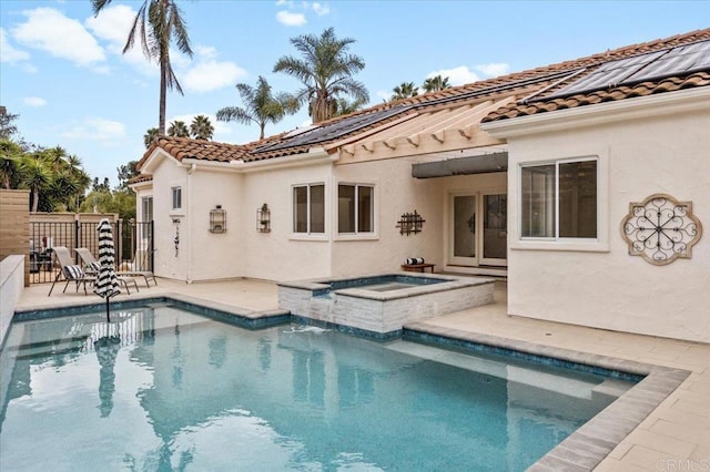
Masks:
[[[490,348],[489,352],[496,352],[496,350],[500,350],[500,353],[504,351],[524,352],[534,358],[559,359],[562,362],[643,377],[626,393],[530,465],[528,471],[535,472],[592,470],[691,373],[683,369],[463,331],[420,321],[405,325],[403,336],[426,339],[440,345],[446,345],[446,340],[448,340],[449,346],[463,348],[466,348],[468,343],[483,345]]]

